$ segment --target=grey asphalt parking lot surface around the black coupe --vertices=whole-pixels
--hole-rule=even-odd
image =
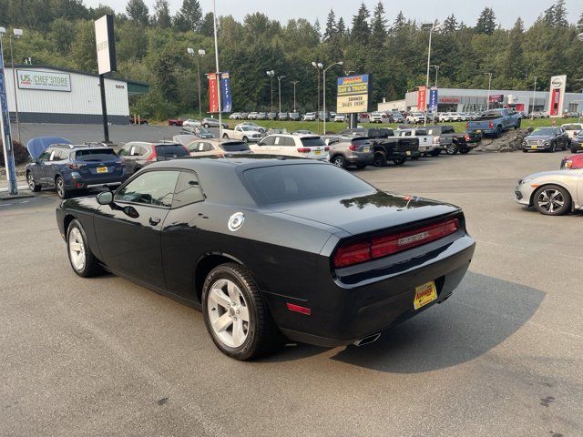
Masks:
[[[196,310],[115,276],[78,278],[53,192],[5,201],[0,435],[583,435],[583,217],[513,200],[518,178],[561,156],[355,172],[463,207],[470,271],[451,299],[373,344],[255,362],[223,356]]]

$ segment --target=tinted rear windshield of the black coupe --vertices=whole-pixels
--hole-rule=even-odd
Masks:
[[[342,168],[302,164],[251,168],[244,173],[260,205],[373,194],[375,189]]]

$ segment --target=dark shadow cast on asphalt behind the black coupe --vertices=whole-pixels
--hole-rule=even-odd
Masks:
[[[331,359],[394,373],[435,371],[471,361],[515,334],[537,311],[545,293],[468,272],[454,295],[379,340],[338,348]],[[330,349],[288,345],[263,361],[294,361]]]

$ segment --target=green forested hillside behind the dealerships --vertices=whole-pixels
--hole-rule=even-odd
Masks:
[[[328,73],[328,96],[334,96],[335,76],[344,71],[373,74],[373,102],[402,98],[406,90],[424,85],[428,32],[421,23],[379,2],[373,11],[360,5],[350,23],[327,17],[311,23],[303,18],[280,23],[257,12],[238,22],[220,11],[220,68],[230,71],[235,110],[269,108],[270,78],[266,70],[285,75],[281,80],[283,110],[292,109],[292,80],[298,80],[301,110],[315,110],[317,72],[312,61],[324,65],[343,60]],[[577,2],[571,2],[576,5]],[[580,4],[577,7],[582,8]],[[82,0],[0,0],[0,25],[21,27],[15,60],[97,72],[93,20],[113,13],[107,6],[89,8]],[[517,17],[510,29],[496,23],[486,7],[476,23],[463,23],[455,13],[434,35],[432,64],[440,66],[439,86],[486,87],[485,72],[493,73],[493,88],[545,89],[550,76],[568,75],[568,90],[583,82],[583,14],[569,24],[567,5],[557,1],[526,27]],[[299,14],[300,15],[300,14]],[[168,0],[156,0],[148,10],[143,0],[129,0],[126,13],[116,15],[118,76],[151,85],[151,92],[132,102],[145,117],[168,117],[198,112],[196,62],[187,47],[203,48],[201,74],[214,71],[212,15],[198,0],[184,0],[170,15]],[[6,55],[8,55],[6,50]],[[8,57],[8,56],[7,56]],[[434,74],[432,73],[432,80]],[[203,111],[207,107],[203,76]],[[277,79],[274,80],[277,101]]]

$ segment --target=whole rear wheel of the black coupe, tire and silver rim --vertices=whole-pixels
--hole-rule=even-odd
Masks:
[[[279,339],[259,287],[239,264],[210,271],[202,290],[202,313],[215,345],[231,358],[251,360],[273,350]]]

